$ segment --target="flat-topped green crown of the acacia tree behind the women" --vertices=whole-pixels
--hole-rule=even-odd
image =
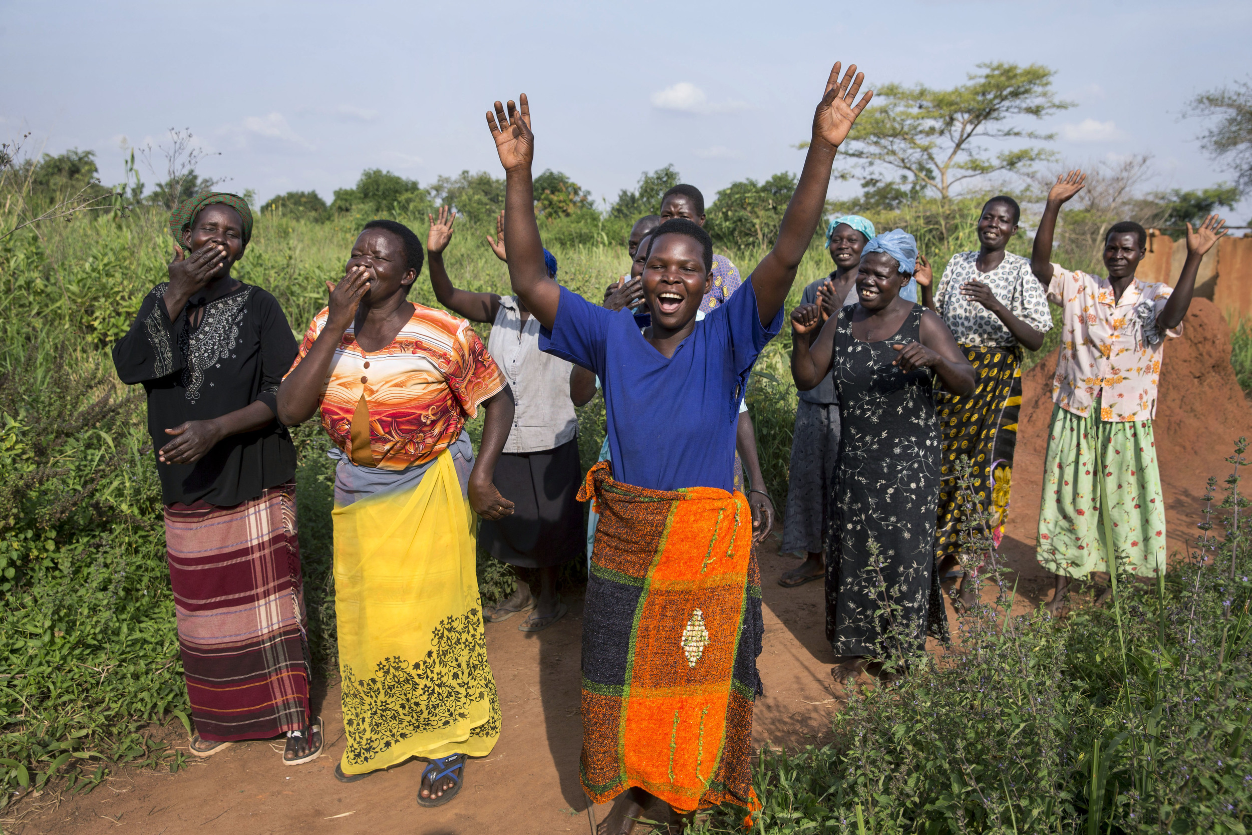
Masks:
[[[861,114],[840,149],[841,159],[858,159],[884,177],[884,169],[948,200],[964,180],[999,172],[1022,174],[1049,159],[1042,148],[988,150],[982,140],[1050,140],[1053,134],[1024,130],[1013,120],[1043,119],[1072,108],[1052,91],[1054,70],[1039,64],[987,63],[969,74],[969,83],[950,90],[925,84],[885,84],[874,91],[874,105]],[[808,143],[801,143],[804,148]],[[864,170],[861,165],[861,170]]]

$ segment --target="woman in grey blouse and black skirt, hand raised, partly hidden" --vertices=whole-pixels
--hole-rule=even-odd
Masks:
[[[496,464],[496,486],[513,502],[513,513],[482,521],[478,540],[491,556],[525,571],[517,591],[483,616],[497,623],[530,612],[517,628],[538,632],[568,611],[556,593],[557,572],[582,551],[582,506],[576,498],[582,469],[570,377],[573,364],[540,351],[540,323],[516,295],[471,293],[452,285],[443,250],[452,239],[454,219],[456,213],[446,207],[438,218],[431,218],[431,284],[443,307],[471,322],[491,323],[487,351],[508,378],[515,403],[513,426]],[[498,242],[488,237],[488,242],[505,260],[503,235]],[[543,255],[548,274],[556,278],[556,258],[546,249]],[[580,392],[580,401],[587,399]]]

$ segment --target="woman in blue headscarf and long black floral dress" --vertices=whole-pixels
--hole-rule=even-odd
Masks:
[[[942,436],[935,377],[953,393],[974,391],[974,371],[933,310],[899,297],[916,263],[899,229],[865,244],[859,304],[830,318],[813,346],[793,341],[791,374],[805,391],[828,371],[839,389],[839,474],[826,565],[826,638],[834,675],[878,672],[883,661],[947,637],[934,576]],[[791,314],[801,336],[820,322],[814,304]]]

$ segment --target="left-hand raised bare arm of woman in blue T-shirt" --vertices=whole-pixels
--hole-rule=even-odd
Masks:
[[[505,247],[508,250],[508,280],[513,293],[547,329],[556,323],[561,287],[543,265],[543,243],[535,222],[535,134],[531,133],[531,105],[526,94],[518,96],[521,110],[512,101],[496,103],[487,111],[487,126],[496,140],[500,164],[505,166]]]

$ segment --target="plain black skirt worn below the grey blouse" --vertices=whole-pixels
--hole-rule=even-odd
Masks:
[[[511,566],[547,568],[581,556],[586,548],[578,438],[542,452],[503,452],[495,483],[513,502],[512,516],[482,520],[478,537],[487,552]]]

